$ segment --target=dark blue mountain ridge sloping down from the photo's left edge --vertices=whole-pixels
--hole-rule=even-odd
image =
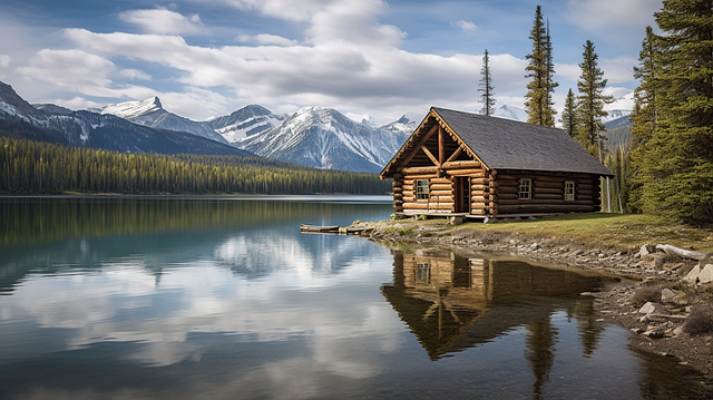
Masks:
[[[183,131],[153,129],[114,115],[71,111],[53,105],[38,107],[0,82],[0,120],[9,137],[123,153],[251,155],[228,144]]]

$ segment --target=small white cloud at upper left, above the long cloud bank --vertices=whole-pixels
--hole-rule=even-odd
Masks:
[[[119,18],[139,26],[147,33],[193,35],[204,30],[198,14],[188,18],[166,9],[124,11]]]

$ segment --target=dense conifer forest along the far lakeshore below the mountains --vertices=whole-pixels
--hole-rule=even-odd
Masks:
[[[12,194],[387,194],[373,174],[262,157],[124,154],[0,137],[0,192]]]

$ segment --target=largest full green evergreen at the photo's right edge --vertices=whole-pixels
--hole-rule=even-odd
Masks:
[[[713,0],[665,0],[655,14],[651,137],[638,133],[645,212],[713,221]],[[646,43],[646,40],[644,41]],[[642,70],[644,70],[642,66]],[[652,79],[653,85],[645,85]],[[639,99],[639,113],[649,106]],[[646,99],[648,100],[648,99]]]

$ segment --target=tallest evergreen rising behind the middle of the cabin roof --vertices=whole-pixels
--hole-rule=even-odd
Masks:
[[[555,68],[551,57],[551,41],[549,38],[549,25],[545,27],[541,7],[535,10],[535,22],[530,31],[529,39],[533,40],[533,52],[525,56],[529,60],[525,68],[526,78],[530,78],[527,84],[525,95],[525,110],[529,124],[555,126],[554,103],[551,92],[558,86],[553,81]]]

